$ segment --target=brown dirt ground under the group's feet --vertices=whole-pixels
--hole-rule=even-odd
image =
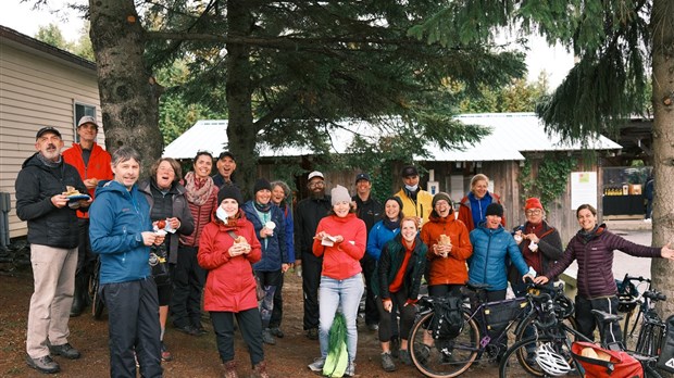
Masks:
[[[45,377],[30,369],[25,363],[25,335],[28,303],[33,293],[33,277],[29,272],[13,276],[0,275],[0,377]],[[307,368],[319,356],[319,342],[308,340],[302,331],[301,279],[286,276],[284,287],[285,314],[282,329],[285,338],[276,345],[265,345],[265,360],[273,377],[316,377]],[[203,322],[209,333],[191,337],[166,330],[165,342],[174,361],[164,363],[165,377],[219,377],[220,358],[209,320]],[[385,373],[379,364],[379,343],[376,332],[359,327],[359,350],[357,358],[358,377],[422,377],[414,368],[399,365],[395,373]],[[83,353],[77,361],[57,357],[61,373],[54,377],[107,377],[109,370],[108,317],[95,320],[89,314],[72,318],[70,342]],[[250,363],[245,344],[237,333],[236,361],[241,377],[250,373]],[[488,365],[488,366],[485,366]],[[462,377],[497,377],[491,364],[480,364]]]

